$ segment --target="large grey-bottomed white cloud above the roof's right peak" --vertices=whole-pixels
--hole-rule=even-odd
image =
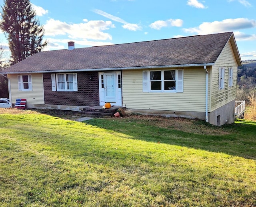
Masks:
[[[247,18],[226,19],[222,21],[203,22],[198,27],[185,28],[185,32],[197,34],[212,34],[220,32],[231,32],[234,30],[254,28],[256,27],[256,20],[249,20]]]

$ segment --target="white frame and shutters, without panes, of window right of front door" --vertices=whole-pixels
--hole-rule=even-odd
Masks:
[[[164,71],[175,70],[175,90],[164,90]],[[161,88],[162,90],[150,90],[150,72],[161,71]],[[182,72],[182,74],[180,73]],[[169,70],[144,70],[142,71],[142,91],[150,93],[182,93],[183,92],[183,69]]]

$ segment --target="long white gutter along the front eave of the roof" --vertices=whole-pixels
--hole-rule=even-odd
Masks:
[[[123,67],[123,68],[92,68],[92,69],[72,69],[72,70],[0,72],[0,74],[63,73],[63,72],[106,71],[106,70],[142,70],[142,69],[160,69],[160,68],[185,68],[185,67],[198,67],[198,66],[214,66],[214,63],[166,65],[166,66],[140,66],[140,67]]]

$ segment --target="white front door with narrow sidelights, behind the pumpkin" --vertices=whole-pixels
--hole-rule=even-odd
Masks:
[[[100,105],[122,105],[121,72],[99,73]]]

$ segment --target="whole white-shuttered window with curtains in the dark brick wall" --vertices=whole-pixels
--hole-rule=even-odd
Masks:
[[[52,74],[53,91],[77,91],[76,73]]]

